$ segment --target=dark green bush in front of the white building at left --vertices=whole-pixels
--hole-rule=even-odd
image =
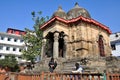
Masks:
[[[17,60],[15,59],[14,55],[6,55],[5,59],[0,60],[0,65],[2,66],[8,66],[10,68],[14,68],[18,64]]]

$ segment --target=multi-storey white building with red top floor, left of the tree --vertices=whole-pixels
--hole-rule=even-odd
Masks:
[[[0,59],[4,59],[7,54],[13,54],[18,61],[21,60],[21,50],[24,48],[21,35],[24,34],[24,31],[11,28],[6,33],[0,32]]]

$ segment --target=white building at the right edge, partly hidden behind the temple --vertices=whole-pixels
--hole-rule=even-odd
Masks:
[[[112,55],[120,57],[120,32],[110,35],[110,43],[112,48]]]

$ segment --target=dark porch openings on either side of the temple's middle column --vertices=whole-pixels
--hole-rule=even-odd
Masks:
[[[54,43],[54,33],[49,32],[46,36],[46,48],[45,48],[45,56],[47,57],[53,57],[53,43]],[[64,57],[64,32],[59,32],[58,36],[58,57]]]

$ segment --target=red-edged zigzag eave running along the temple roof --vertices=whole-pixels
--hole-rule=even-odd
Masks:
[[[98,27],[106,30],[109,34],[112,33],[107,26],[105,26],[105,25],[97,22],[96,20],[94,20],[92,18],[85,18],[83,16],[79,16],[77,18],[73,18],[73,19],[70,19],[70,20],[66,20],[66,19],[60,18],[59,16],[54,16],[49,21],[47,21],[45,24],[43,24],[42,26],[40,26],[40,29],[42,29],[42,30],[46,29],[47,27],[49,27],[48,25],[51,24],[54,21],[60,21],[60,22],[63,22],[65,24],[70,24],[70,23],[74,23],[74,22],[77,22],[77,21],[80,21],[80,20],[82,20],[84,22],[87,22],[87,23],[91,23],[93,25],[96,25],[96,26],[98,26]]]

